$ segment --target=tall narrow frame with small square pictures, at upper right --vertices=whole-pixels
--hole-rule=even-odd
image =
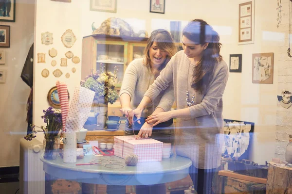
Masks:
[[[255,37],[255,0],[238,6],[238,45],[253,44]]]

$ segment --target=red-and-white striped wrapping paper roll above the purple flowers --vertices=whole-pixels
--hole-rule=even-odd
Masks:
[[[63,130],[66,126],[66,117],[69,111],[68,89],[66,83],[56,82],[58,97],[61,104]]]

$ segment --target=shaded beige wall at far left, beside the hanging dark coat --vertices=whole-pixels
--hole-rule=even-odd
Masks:
[[[26,102],[30,87],[22,81],[27,53],[34,41],[34,4],[16,1],[16,22],[0,22],[10,26],[10,48],[5,50],[7,70],[5,83],[0,83],[0,167],[19,165],[19,139],[26,134]]]

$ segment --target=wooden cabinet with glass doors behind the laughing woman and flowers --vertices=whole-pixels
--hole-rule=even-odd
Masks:
[[[106,71],[114,71],[118,67],[118,74],[115,86],[119,91],[122,85],[124,73],[128,64],[139,53],[143,56],[147,38],[121,37],[102,34],[94,34],[83,38],[82,42],[82,67],[81,79],[84,79],[91,72],[99,70],[100,64]],[[141,57],[142,57],[141,56]],[[109,104],[108,115],[122,116],[120,113],[120,102]]]

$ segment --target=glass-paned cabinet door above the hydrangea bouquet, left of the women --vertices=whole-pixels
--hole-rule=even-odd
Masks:
[[[96,65],[93,72],[104,69],[114,72],[114,67],[118,67],[116,88],[119,90],[122,85],[128,53],[128,43],[122,41],[96,41]]]

